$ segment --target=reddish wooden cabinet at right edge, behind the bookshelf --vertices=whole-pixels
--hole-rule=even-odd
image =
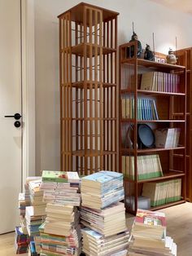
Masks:
[[[176,52],[177,63],[185,64],[186,52],[186,199],[192,202],[192,47]],[[175,154],[174,157],[181,157]]]

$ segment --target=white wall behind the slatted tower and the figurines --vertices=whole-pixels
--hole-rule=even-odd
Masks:
[[[36,72],[36,171],[59,170],[59,22],[57,15],[80,1],[34,0]],[[120,12],[118,42],[128,42],[132,22],[142,46],[167,53],[192,46],[192,15],[172,11],[148,0],[97,0],[86,2]]]

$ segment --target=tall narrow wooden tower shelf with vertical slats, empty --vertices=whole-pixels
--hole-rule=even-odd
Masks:
[[[117,15],[84,2],[59,15],[61,170],[116,170]]]

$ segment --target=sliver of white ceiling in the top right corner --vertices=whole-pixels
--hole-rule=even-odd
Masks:
[[[157,2],[164,5],[164,7],[169,7],[177,11],[182,11],[192,15],[192,0],[151,0],[152,2]]]

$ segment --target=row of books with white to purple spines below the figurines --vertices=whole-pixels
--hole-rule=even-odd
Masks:
[[[179,84],[178,74],[154,71],[142,74],[140,89],[178,93]]]

